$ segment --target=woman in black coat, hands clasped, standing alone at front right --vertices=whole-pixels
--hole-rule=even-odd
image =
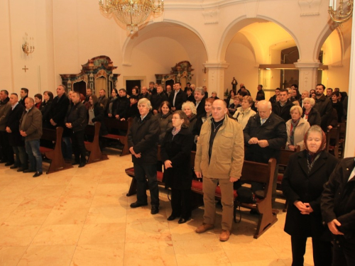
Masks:
[[[315,266],[332,265],[330,233],[322,224],[320,198],[337,159],[324,151],[320,126],[305,134],[305,150],[291,155],[283,175],[283,194],[289,202],[285,232],[291,235],[293,265],[303,265],[307,238],[312,237]]]

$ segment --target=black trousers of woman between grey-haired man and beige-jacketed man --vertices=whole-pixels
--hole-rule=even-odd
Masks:
[[[171,209],[173,216],[190,218],[191,216],[191,189],[171,189]]]

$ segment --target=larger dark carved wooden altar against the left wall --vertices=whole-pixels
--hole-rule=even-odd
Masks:
[[[116,89],[117,78],[120,75],[112,73],[116,68],[110,57],[99,55],[87,60],[79,74],[60,74],[60,77],[67,91],[74,90],[86,95],[86,89],[92,89],[92,94],[98,96],[100,89],[105,89],[109,96],[111,90]]]

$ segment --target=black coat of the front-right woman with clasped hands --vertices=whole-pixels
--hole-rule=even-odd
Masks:
[[[320,199],[323,185],[328,181],[337,162],[333,155],[322,151],[309,172],[307,150],[290,156],[282,183],[283,194],[290,203],[286,214],[286,233],[297,237],[330,238],[328,229],[322,225]],[[300,214],[293,204],[297,200],[309,203],[313,212],[309,215]]]

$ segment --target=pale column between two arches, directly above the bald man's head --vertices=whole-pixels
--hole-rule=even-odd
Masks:
[[[208,96],[211,96],[212,92],[217,92],[219,99],[224,99],[224,70],[229,66],[229,64],[224,61],[216,63],[206,62],[203,65],[207,68],[208,74]]]

